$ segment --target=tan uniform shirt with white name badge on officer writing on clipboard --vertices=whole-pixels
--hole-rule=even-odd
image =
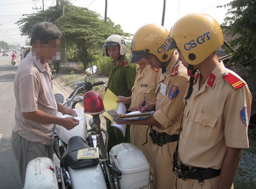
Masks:
[[[154,118],[161,123],[160,127],[154,127],[154,129],[169,135],[178,134],[184,107],[184,94],[189,85],[187,69],[177,61],[178,55],[171,60],[167,71],[160,77],[156,91],[156,112],[153,114]]]

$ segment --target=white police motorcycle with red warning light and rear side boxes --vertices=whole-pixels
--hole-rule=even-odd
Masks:
[[[98,67],[94,65],[86,69],[86,75],[90,76],[98,71]],[[110,150],[108,157],[108,134],[101,127],[100,120],[100,114],[105,111],[105,107],[99,93],[92,90],[93,86],[104,83],[90,83],[85,79],[85,82],[77,84],[77,89],[65,102],[63,95],[55,95],[57,101],[74,108],[80,122],[72,130],[56,125],[54,152],[60,159],[60,163],[54,165],[47,157],[32,159],[27,164],[24,188],[133,189],[152,187],[149,163],[139,148],[130,143],[117,144]],[[75,99],[79,93],[85,93],[84,97],[79,96]],[[81,101],[84,104],[84,111],[75,108],[75,105]],[[85,113],[91,115],[88,120],[90,129],[87,129]],[[59,113],[58,116],[66,115]],[[79,150],[85,149],[97,149],[99,155],[94,158],[78,159]]]

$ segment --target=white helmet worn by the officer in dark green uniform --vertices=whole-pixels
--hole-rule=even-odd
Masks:
[[[106,54],[107,56],[109,56],[108,54],[108,47],[113,47],[113,46],[116,46],[118,45],[119,46],[119,50],[120,50],[120,55],[123,56],[126,54],[126,41],[124,41],[124,39],[120,36],[120,35],[117,35],[117,34],[114,34],[114,35],[110,35],[106,41],[105,41],[105,44],[103,45],[103,47],[106,48]]]

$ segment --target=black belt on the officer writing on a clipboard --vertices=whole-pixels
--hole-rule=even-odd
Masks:
[[[163,144],[169,142],[175,142],[178,140],[178,135],[168,135],[166,133],[158,133],[155,129],[151,129],[149,133],[150,139],[154,144],[163,146]]]

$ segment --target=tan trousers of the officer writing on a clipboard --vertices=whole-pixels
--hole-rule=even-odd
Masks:
[[[177,176],[172,171],[174,150],[177,142],[163,144],[162,147],[154,144],[154,189],[175,188]]]

